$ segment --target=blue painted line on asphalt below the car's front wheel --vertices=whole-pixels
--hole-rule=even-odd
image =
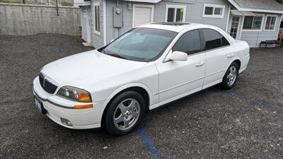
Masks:
[[[157,157],[159,159],[163,159],[161,153],[159,153],[157,148],[154,146],[154,142],[152,142],[151,139],[149,138],[149,136],[146,135],[144,128],[139,127],[138,131],[139,131],[139,135],[141,136],[142,140],[144,141],[146,146],[149,148],[151,155],[154,155],[155,157]]]

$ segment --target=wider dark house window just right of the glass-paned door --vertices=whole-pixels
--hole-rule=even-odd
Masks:
[[[243,20],[243,29],[245,30],[261,30],[263,16],[245,16]]]

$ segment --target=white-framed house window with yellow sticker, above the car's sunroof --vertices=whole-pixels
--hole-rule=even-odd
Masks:
[[[166,6],[166,22],[185,22],[186,6]]]

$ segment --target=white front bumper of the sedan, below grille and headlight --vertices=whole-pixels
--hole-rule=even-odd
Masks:
[[[33,94],[42,102],[46,115],[57,124],[70,129],[92,129],[100,127],[105,101],[81,103],[50,95],[40,86],[38,76],[33,81]],[[92,108],[74,110],[74,105],[93,104]],[[61,118],[68,119],[71,126],[63,124]]]

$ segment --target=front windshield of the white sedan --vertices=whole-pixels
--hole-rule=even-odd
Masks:
[[[134,28],[98,51],[134,61],[152,61],[161,56],[177,33],[153,28]]]

